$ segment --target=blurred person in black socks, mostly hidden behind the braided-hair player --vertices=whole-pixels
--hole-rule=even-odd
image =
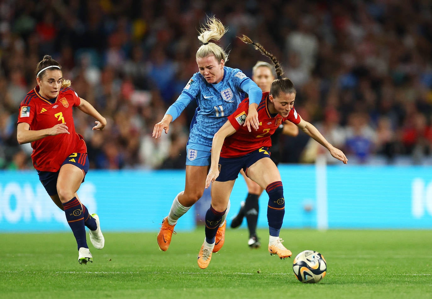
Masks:
[[[274,68],[270,63],[264,61],[258,61],[252,68],[252,80],[261,88],[263,92],[270,91],[271,84],[276,78]],[[299,128],[294,125],[291,121],[284,121],[283,124],[276,128],[276,131],[271,135],[271,156],[270,158],[277,166],[280,161],[280,146],[279,139],[280,134],[289,136],[297,136],[299,134]],[[258,199],[264,189],[257,183],[248,178],[243,170],[240,171],[243,178],[245,178],[246,185],[248,186],[248,196],[244,202],[241,202],[241,208],[238,214],[232,219],[231,227],[236,228],[241,225],[243,218],[246,217],[248,222],[249,240],[248,245],[251,248],[260,247],[261,243],[257,236],[257,222],[259,204]]]

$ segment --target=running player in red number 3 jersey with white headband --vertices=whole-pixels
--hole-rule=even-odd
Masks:
[[[32,162],[39,180],[54,203],[66,214],[67,223],[78,245],[78,262],[93,262],[86,241],[96,249],[105,244],[98,215],[89,211],[78,199],[76,191],[89,170],[86,142],[75,132],[73,107],[96,119],[93,130],[103,130],[106,119],[86,100],[78,97],[65,80],[60,64],[45,55],[36,67],[37,86],[21,102],[18,115],[19,144],[32,143]]]

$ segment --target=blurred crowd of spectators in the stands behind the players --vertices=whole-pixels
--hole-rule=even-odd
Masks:
[[[167,135],[151,134],[198,71],[208,15],[229,27],[219,43],[226,65],[251,76],[266,58],[236,36],[262,44],[294,82],[300,115],[350,164],[432,165],[430,0],[0,0],[0,169],[32,168],[16,120],[45,54],[108,120],[96,132],[74,114],[91,168],[184,168],[196,106]],[[302,132],[280,142],[282,162],[312,163],[325,151]]]

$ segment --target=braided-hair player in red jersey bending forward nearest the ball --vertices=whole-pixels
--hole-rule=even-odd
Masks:
[[[291,256],[291,251],[282,245],[283,240],[279,237],[285,213],[283,186],[279,170],[267,151],[271,145],[270,136],[283,121],[291,121],[327,148],[333,157],[345,164],[348,162],[340,149],[332,146],[313,125],[303,120],[295,111],[294,84],[288,78],[282,78],[282,69],[276,57],[245,35],[241,40],[246,44],[253,44],[255,49],[272,60],[277,79],[273,81],[270,93],[262,94],[258,106],[258,118],[262,125],[257,131],[249,132],[243,128],[249,106],[249,100],[246,98],[213,137],[210,171],[206,178],[206,187],[213,182],[212,202],[206,213],[206,237],[198,254],[198,266],[202,269],[207,268],[210,263],[216,236],[214,224],[221,221],[221,215],[227,207],[240,169],[243,169],[248,178],[265,189],[269,195],[267,220],[270,231],[268,245],[270,255],[277,254],[280,259]]]

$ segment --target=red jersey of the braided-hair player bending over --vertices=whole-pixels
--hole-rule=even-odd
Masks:
[[[243,156],[247,153],[251,153],[256,149],[263,146],[271,146],[270,136],[276,131],[283,121],[289,120],[295,125],[300,122],[300,115],[292,107],[288,116],[282,117],[279,114],[271,114],[268,109],[269,103],[269,92],[264,92],[261,98],[260,105],[258,106],[258,120],[260,125],[258,131],[252,129],[248,131],[248,127],[243,127],[246,116],[248,115],[249,99],[243,100],[238,105],[237,110],[228,117],[231,125],[237,130],[234,134],[227,137],[223,143],[220,156],[223,158],[233,158]]]

